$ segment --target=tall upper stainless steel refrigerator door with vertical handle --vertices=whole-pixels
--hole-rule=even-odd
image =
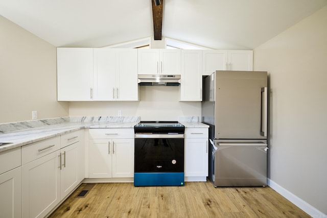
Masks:
[[[216,71],[215,138],[265,139],[262,88],[267,72]]]

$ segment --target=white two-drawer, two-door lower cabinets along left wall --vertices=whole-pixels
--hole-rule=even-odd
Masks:
[[[76,131],[71,137],[74,143],[63,143],[62,149],[60,136],[22,147],[22,217],[46,216],[83,180],[81,133]]]

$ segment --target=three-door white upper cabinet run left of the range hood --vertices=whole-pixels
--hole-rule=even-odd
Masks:
[[[136,49],[57,49],[58,101],[138,101]]]

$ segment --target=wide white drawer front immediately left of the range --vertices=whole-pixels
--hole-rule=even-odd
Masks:
[[[89,138],[134,138],[134,129],[89,129]]]

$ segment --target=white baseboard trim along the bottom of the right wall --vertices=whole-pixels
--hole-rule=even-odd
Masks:
[[[320,210],[316,209],[315,207],[311,206],[307,202],[303,201],[296,195],[294,195],[292,192],[289,190],[285,189],[281,185],[278,185],[271,179],[267,179],[267,185],[277,191],[279,194],[281,194],[284,198],[295,204],[297,207],[299,207],[301,210],[305,211],[308,213],[310,216],[314,218],[322,218],[322,217],[327,217],[326,214],[321,212]]]

